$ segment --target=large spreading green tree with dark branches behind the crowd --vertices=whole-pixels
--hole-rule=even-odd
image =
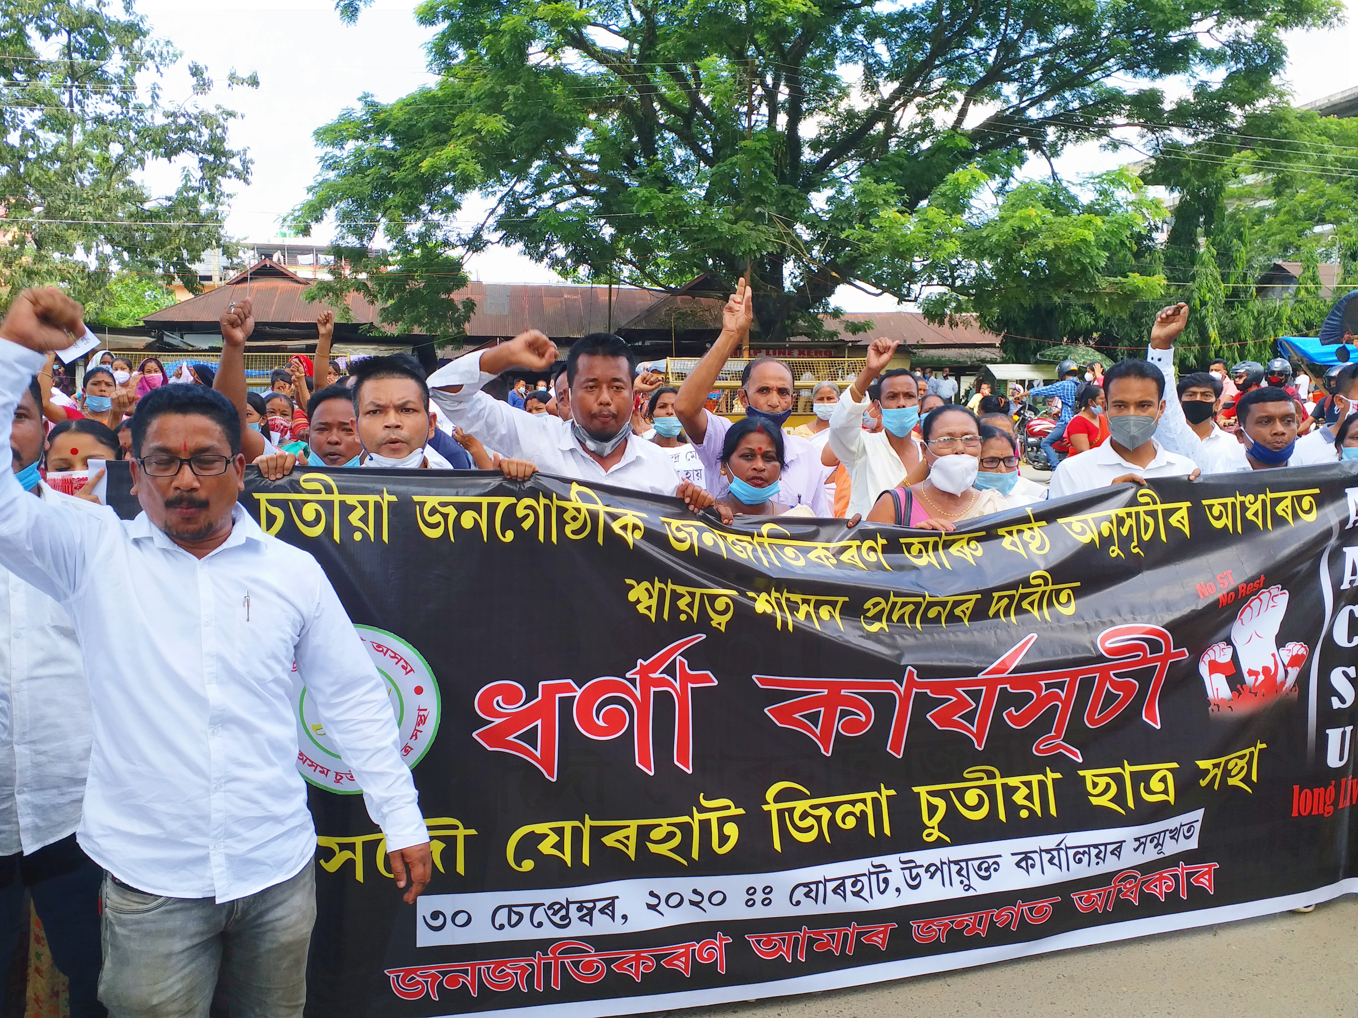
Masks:
[[[341,0],[354,16],[364,0]],[[841,284],[913,299],[856,240],[953,172],[1004,178],[1118,125],[1210,132],[1274,92],[1282,33],[1335,0],[426,0],[437,84],[318,133],[296,213],[458,250],[515,244],[587,278],[751,271],[766,338],[813,334]],[[1169,100],[1156,86],[1191,84]],[[1128,84],[1139,81],[1145,84]],[[462,227],[463,200],[492,201]],[[411,280],[410,285],[420,285]]]

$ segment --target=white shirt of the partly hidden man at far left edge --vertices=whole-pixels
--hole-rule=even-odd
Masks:
[[[99,506],[39,485],[79,512]],[[33,498],[33,495],[29,495]],[[0,855],[75,833],[90,771],[90,691],[67,609],[0,569]]]

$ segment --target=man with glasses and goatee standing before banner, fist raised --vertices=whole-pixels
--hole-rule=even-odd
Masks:
[[[0,432],[43,353],[83,331],[57,289],[0,324]],[[132,423],[141,514],[79,512],[0,476],[0,565],[71,614],[94,719],[80,847],[106,871],[99,998],[117,1017],[295,1018],[315,920],[296,666],[413,903],[429,835],[382,679],[311,555],[259,529],[238,411],[164,385]]]

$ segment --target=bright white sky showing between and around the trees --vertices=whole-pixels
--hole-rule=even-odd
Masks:
[[[147,0],[137,10],[152,31],[185,54],[166,79],[167,98],[189,95],[186,65],[205,64],[219,86],[208,102],[240,113],[231,143],[247,148],[251,182],[238,187],[227,219],[240,240],[277,235],[278,223],[307,193],[316,176],[319,151],[312,132],[354,106],[364,92],[391,102],[433,81],[425,72],[424,43],[433,34],[414,20],[414,0],[376,0],[357,24],[344,24],[329,0]],[[1358,86],[1353,53],[1358,43],[1358,0],[1350,0],[1348,24],[1329,33],[1294,33],[1289,38],[1286,84],[1298,103]],[[235,68],[259,75],[258,90],[227,90]],[[1066,155],[1062,174],[1097,172],[1135,159],[1086,145]],[[153,178],[152,178],[153,179]],[[469,219],[475,206],[469,205]],[[316,239],[329,233],[316,231]],[[555,282],[555,274],[513,250],[496,248],[469,261],[473,278],[486,282]],[[870,297],[841,288],[835,303],[845,311],[895,309],[891,297]]]

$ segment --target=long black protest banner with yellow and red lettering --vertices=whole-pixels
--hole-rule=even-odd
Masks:
[[[437,865],[401,903],[299,688],[308,1014],[669,1010],[1358,892],[1354,480],[1123,485],[930,533],[251,470],[243,505],[386,677]]]

